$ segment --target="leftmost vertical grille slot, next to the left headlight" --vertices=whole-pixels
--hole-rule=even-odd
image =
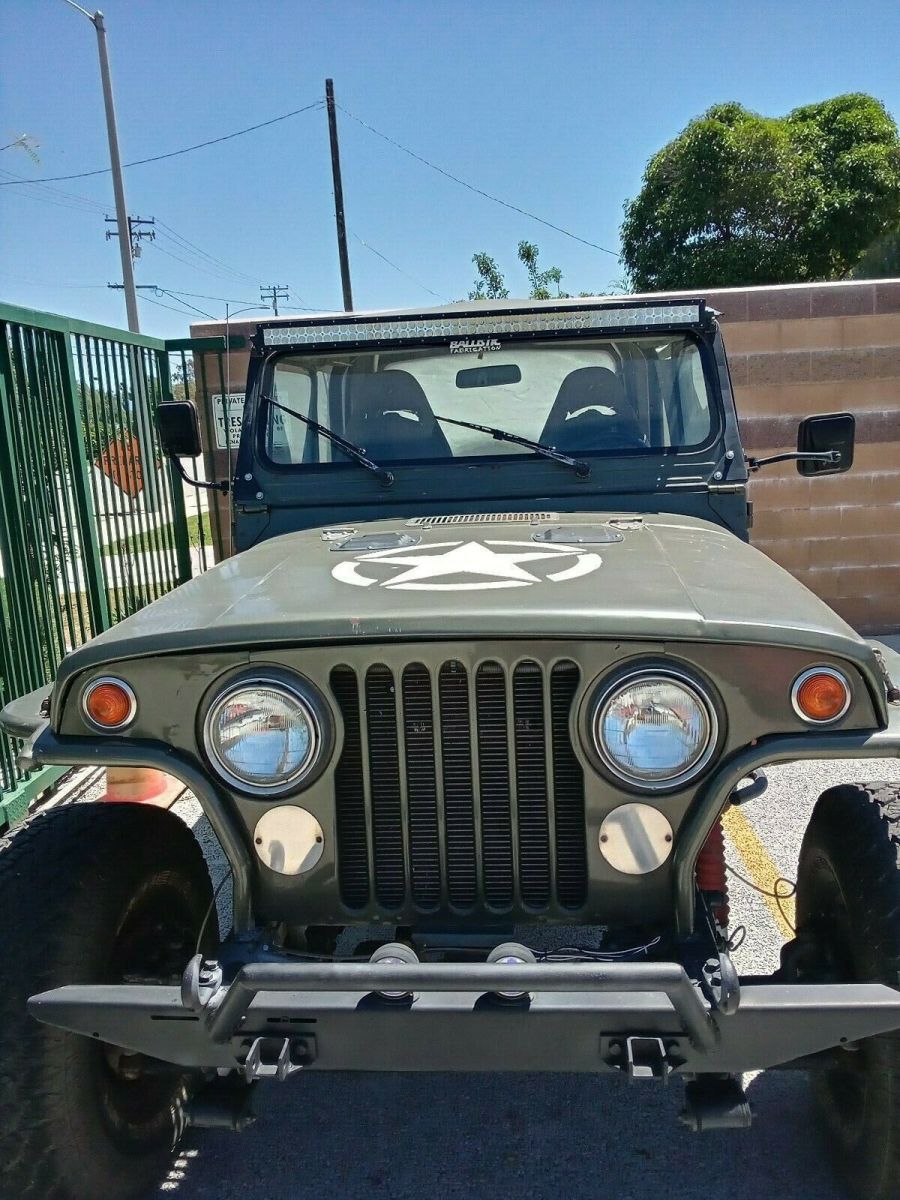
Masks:
[[[343,719],[343,748],[335,768],[335,824],[340,848],[337,877],[348,908],[368,904],[368,838],[362,776],[359,685],[350,667],[335,667],[331,691]]]

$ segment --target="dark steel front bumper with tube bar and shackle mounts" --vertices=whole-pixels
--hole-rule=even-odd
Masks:
[[[191,991],[68,985],[28,1007],[73,1033],[248,1078],[299,1067],[737,1074],[900,1028],[900,991],[883,984],[746,980],[726,1015],[676,962],[251,962]]]

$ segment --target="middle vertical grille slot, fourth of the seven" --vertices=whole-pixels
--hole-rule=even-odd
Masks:
[[[461,662],[445,662],[438,674],[440,707],[446,888],[450,904],[472,908],[478,895],[475,811],[472,780],[469,683]]]

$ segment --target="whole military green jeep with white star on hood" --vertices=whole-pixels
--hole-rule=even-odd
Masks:
[[[198,452],[190,403],[158,420]],[[852,416],[776,457],[848,469]],[[898,658],[748,544],[767,461],[701,299],[260,325],[239,552],[2,716],[29,761],[182,780],[230,928],[172,812],[16,833],[5,1194],[138,1195],[305,1070],[680,1076],[704,1130],[790,1067],[899,1195],[900,790],[826,791],[780,968],[731,958],[722,814],[768,763],[900,752]]]

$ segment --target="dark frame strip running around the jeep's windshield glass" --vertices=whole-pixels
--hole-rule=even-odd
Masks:
[[[725,433],[725,412],[721,397],[721,386],[719,378],[718,364],[713,348],[709,343],[707,336],[703,336],[695,328],[682,326],[643,326],[635,329],[620,329],[620,330],[583,330],[583,331],[566,331],[565,335],[547,335],[544,332],[536,334],[508,334],[504,335],[503,346],[504,348],[512,347],[516,343],[523,344],[541,344],[541,346],[558,346],[560,349],[568,344],[577,344],[582,341],[610,341],[610,342],[622,342],[622,341],[636,341],[647,340],[648,337],[654,337],[659,340],[672,338],[680,340],[694,344],[697,348],[700,355],[701,370],[703,373],[703,383],[707,392],[707,403],[709,410],[709,430],[707,436],[702,442],[685,444],[685,445],[673,445],[673,446],[640,446],[634,449],[578,449],[577,457],[583,458],[588,463],[598,464],[598,474],[602,474],[602,464],[614,462],[632,461],[638,463],[654,462],[662,458],[689,458],[692,456],[700,456],[701,458],[706,452],[714,446]],[[400,352],[415,352],[422,349],[434,349],[434,350],[448,350],[448,342],[452,341],[448,337],[422,337],[416,338],[414,342],[410,340],[406,341],[391,341],[391,342],[378,342],[378,343],[355,343],[353,346],[347,344],[316,344],[316,346],[278,346],[278,347],[266,347],[264,350],[263,361],[260,364],[259,371],[259,383],[256,391],[256,402],[252,407],[245,412],[245,420],[251,421],[252,443],[253,443],[253,457],[259,466],[263,466],[266,473],[272,473],[274,475],[284,476],[288,475],[292,479],[310,478],[318,479],[322,481],[323,478],[335,479],[337,481],[340,478],[344,478],[348,473],[359,472],[359,466],[354,463],[350,458],[337,461],[331,460],[330,462],[280,462],[272,458],[268,452],[266,437],[268,437],[268,420],[265,413],[265,397],[272,395],[275,371],[277,364],[284,359],[290,359],[293,362],[301,365],[304,359],[324,358],[330,354],[337,356],[338,354],[365,354],[386,352],[386,353],[400,353]],[[461,360],[462,362],[463,360]],[[586,364],[588,365],[588,364]],[[312,396],[310,403],[310,415],[314,420],[322,420],[318,412],[317,396],[318,384],[317,380],[312,379]],[[322,421],[322,424],[328,424]],[[340,430],[334,432],[338,433],[341,437],[346,437]],[[517,430],[508,430],[510,433],[518,433]],[[307,431],[311,433],[311,431]],[[490,440],[488,434],[484,434],[486,440]],[[247,439],[242,438],[241,446],[245,445]],[[313,438],[313,444],[316,444]],[[576,454],[576,451],[565,450],[566,454]],[[511,451],[498,451],[497,454],[484,452],[484,454],[468,454],[458,456],[442,455],[437,457],[413,457],[413,458],[385,458],[379,466],[389,467],[396,475],[406,474],[409,472],[418,473],[422,469],[434,470],[436,467],[443,469],[455,469],[455,470],[472,470],[478,469],[484,466],[485,468],[491,468],[493,470],[502,468],[522,468],[527,463],[529,468],[535,461],[548,460],[544,458],[538,451],[529,451],[524,448],[521,452]],[[240,464],[239,464],[240,466]]]

